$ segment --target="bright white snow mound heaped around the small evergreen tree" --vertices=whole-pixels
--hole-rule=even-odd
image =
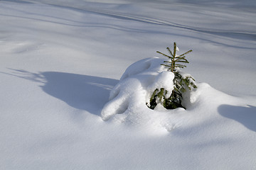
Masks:
[[[102,119],[164,132],[203,121],[210,116],[208,111],[217,111],[221,105],[239,101],[209,84],[199,83],[197,89],[183,95],[186,110],[167,110],[161,104],[151,110],[146,103],[156,88],[173,90],[174,74],[161,65],[163,62],[164,59],[151,57],[130,65],[110,92],[110,101],[101,112]]]

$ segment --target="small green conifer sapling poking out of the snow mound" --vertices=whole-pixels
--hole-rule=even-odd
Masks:
[[[166,89],[156,89],[150,98],[149,108],[151,109],[154,109],[158,103],[161,103],[161,105],[167,109],[185,108],[182,105],[183,94],[187,90],[191,91],[192,89],[197,88],[195,79],[193,79],[190,74],[183,74],[183,72],[180,72],[180,69],[186,67],[184,64],[189,63],[188,60],[186,60],[186,55],[189,52],[192,52],[192,50],[189,50],[182,55],[176,55],[176,42],[174,42],[173,52],[171,52],[169,47],[167,47],[167,50],[169,55],[159,51],[157,52],[169,58],[168,61],[164,61],[164,64],[161,65],[168,67],[168,71],[174,73],[174,90],[171,92],[171,96],[166,96],[166,94],[168,94]]]

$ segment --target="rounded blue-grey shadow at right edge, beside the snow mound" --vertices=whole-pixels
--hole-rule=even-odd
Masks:
[[[256,132],[256,107],[255,106],[230,106],[221,105],[218,112],[226,118],[238,121],[249,130]]]

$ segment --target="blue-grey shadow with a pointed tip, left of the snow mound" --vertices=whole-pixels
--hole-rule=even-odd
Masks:
[[[64,101],[69,106],[100,115],[108,101],[110,90],[117,84],[116,79],[93,77],[65,72],[41,72],[39,74],[12,69],[12,76],[43,83],[46,94]],[[7,73],[6,73],[7,74]]]

